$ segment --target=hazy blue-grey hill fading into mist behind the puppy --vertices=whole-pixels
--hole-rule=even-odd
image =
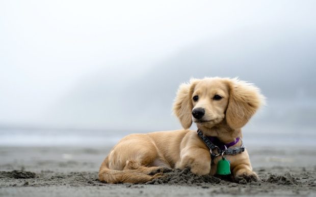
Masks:
[[[234,32],[188,46],[141,77],[133,78],[133,68],[103,70],[83,78],[47,118],[76,127],[174,129],[179,124],[171,107],[178,85],[191,77],[221,76],[240,77],[262,89],[269,107],[257,118],[259,122],[314,124],[312,33],[300,32],[305,37],[297,38],[295,31]]]

